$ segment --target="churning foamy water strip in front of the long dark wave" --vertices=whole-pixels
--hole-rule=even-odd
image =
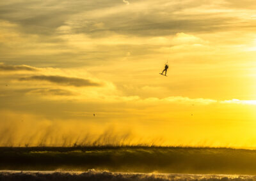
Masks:
[[[0,180],[149,180],[149,181],[255,181],[251,175],[193,175],[177,173],[115,173],[111,171],[0,171]]]

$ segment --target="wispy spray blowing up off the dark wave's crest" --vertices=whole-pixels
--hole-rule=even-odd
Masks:
[[[47,125],[47,123],[46,123]],[[95,132],[92,127],[79,124],[67,129],[63,123],[38,125],[33,129],[19,129],[15,126],[0,131],[0,147],[88,147],[159,144],[157,138],[139,138],[129,130],[116,130],[110,126]],[[82,128],[83,127],[83,128]],[[78,129],[77,129],[78,128]],[[82,130],[83,129],[83,130]]]

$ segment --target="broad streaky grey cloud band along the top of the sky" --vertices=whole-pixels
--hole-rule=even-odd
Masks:
[[[19,30],[28,34],[54,36],[56,29],[62,27],[64,31],[68,30],[68,33],[72,30],[73,33],[90,34],[94,37],[102,34],[108,36],[109,32],[136,36],[163,36],[177,32],[223,31],[234,29],[236,24],[230,22],[239,21],[241,18],[214,11],[208,13],[213,9],[214,3],[206,1],[198,1],[200,3],[184,1],[182,5],[166,0],[157,3],[156,1],[136,1],[130,4],[127,0],[122,2],[129,4],[132,8],[123,6],[120,1],[104,1],[104,3],[102,1],[66,1],[63,4],[54,0],[47,3],[35,1],[15,3],[14,1],[10,4],[0,3],[2,5],[0,15],[3,20],[19,24]],[[239,6],[240,3],[232,4]],[[72,10],[70,6],[73,7]],[[215,8],[221,10],[218,4]],[[130,16],[131,14],[133,16]],[[52,16],[54,19],[51,18]],[[106,27],[101,25],[95,27],[95,24],[99,23]],[[245,24],[243,27],[248,25]]]

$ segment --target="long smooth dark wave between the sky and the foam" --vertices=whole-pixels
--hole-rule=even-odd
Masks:
[[[0,170],[256,174],[256,150],[191,147],[0,147]]]

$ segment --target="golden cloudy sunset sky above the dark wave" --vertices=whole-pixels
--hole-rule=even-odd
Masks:
[[[255,32],[255,0],[0,1],[0,146],[256,148]]]

